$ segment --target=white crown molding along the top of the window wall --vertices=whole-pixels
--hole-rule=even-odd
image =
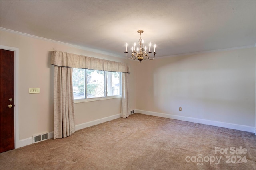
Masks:
[[[64,42],[56,41],[56,40],[53,40],[53,39],[47,39],[47,38],[43,38],[43,37],[38,37],[38,36],[35,36],[35,35],[30,35],[30,34],[27,34],[27,33],[22,33],[22,32],[19,32],[19,31],[14,31],[14,30],[11,30],[11,29],[6,29],[6,28],[3,28],[3,27],[0,27],[0,30],[1,31],[10,32],[10,33],[16,33],[16,34],[19,34],[19,35],[24,35],[24,36],[32,37],[32,38],[36,38],[36,39],[41,39],[41,40],[49,41],[49,42],[52,42],[52,43],[58,43],[58,44],[62,44],[62,45],[67,45],[69,47],[74,47],[74,48],[77,48],[77,49],[82,49],[82,50],[86,50],[86,51],[90,51],[90,52],[94,52],[94,53],[100,53],[100,54],[109,55],[109,56],[112,56],[112,57],[119,57],[119,58],[121,57],[120,55],[115,54],[115,53],[110,53],[110,52],[106,52],[106,51],[102,51],[102,50],[98,50],[98,49],[93,49],[93,48],[90,48],[90,47],[83,47],[83,46],[79,46],[79,45],[64,43]]]

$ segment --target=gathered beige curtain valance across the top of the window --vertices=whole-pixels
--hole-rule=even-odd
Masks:
[[[87,57],[62,51],[52,51],[51,64],[61,67],[87,68],[92,70],[130,73],[130,67],[126,63]]]

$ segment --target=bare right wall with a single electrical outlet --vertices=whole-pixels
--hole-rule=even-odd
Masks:
[[[252,47],[137,63],[136,109],[255,127],[255,56]]]

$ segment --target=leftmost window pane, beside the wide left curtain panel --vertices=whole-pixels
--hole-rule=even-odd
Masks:
[[[85,98],[84,73],[85,73],[85,69],[73,68],[72,82],[73,82],[74,99]]]

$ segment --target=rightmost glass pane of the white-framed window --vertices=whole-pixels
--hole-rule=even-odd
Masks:
[[[120,72],[107,72],[107,96],[120,95]]]

